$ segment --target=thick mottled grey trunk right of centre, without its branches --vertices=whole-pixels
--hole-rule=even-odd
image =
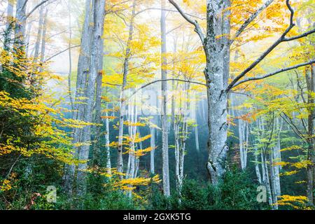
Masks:
[[[225,173],[228,153],[228,86],[230,71],[230,1],[207,1],[207,37],[204,50],[207,57],[205,76],[208,97],[208,163],[211,182],[216,185]]]

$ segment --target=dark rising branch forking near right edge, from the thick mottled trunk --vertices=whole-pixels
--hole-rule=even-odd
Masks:
[[[295,24],[293,22],[293,17],[294,17],[294,10],[293,8],[290,6],[290,0],[286,0],[286,6],[288,7],[288,10],[290,10],[290,25],[288,26],[288,28],[286,29],[286,31],[283,32],[283,34],[281,34],[280,38],[278,38],[276,40],[276,42],[274,42],[265,52],[262,53],[262,55],[260,55],[260,57],[258,57],[258,59],[255,60],[255,62],[253,62],[250,66],[247,67],[247,69],[245,69],[244,71],[242,71],[239,76],[237,76],[234,80],[232,80],[232,82],[230,83],[230,85],[228,85],[227,89],[225,90],[225,92],[229,92],[233,87],[235,87],[235,85],[237,84],[237,82],[243,78],[246,73],[248,73],[249,71],[251,71],[253,68],[255,68],[255,66],[257,66],[257,64],[259,64],[262,59],[265,59],[265,57],[267,57],[267,55],[269,55],[270,52],[272,52],[272,50],[274,50],[274,48],[276,48],[276,46],[278,46],[280,43],[282,43],[283,41],[289,41],[291,38],[286,38],[286,34],[288,34],[288,32],[295,27]],[[295,36],[292,38],[292,40],[295,40],[297,38],[302,38],[304,36],[307,36],[309,34],[314,33],[314,31],[308,31],[305,34],[301,34],[299,36]]]

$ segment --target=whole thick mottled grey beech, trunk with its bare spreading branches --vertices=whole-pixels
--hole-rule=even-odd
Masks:
[[[227,135],[228,135],[228,92],[233,88],[247,83],[251,80],[260,80],[274,76],[277,73],[296,69],[300,66],[313,64],[314,59],[309,62],[297,64],[287,68],[279,69],[272,73],[267,73],[253,78],[245,78],[246,74],[253,70],[272,50],[280,43],[287,41],[294,41],[298,38],[303,38],[309,34],[313,34],[315,29],[304,32],[297,36],[287,37],[287,34],[295,26],[294,10],[290,5],[290,1],[286,1],[286,6],[290,10],[290,22],[288,28],[281,34],[281,36],[269,47],[265,52],[258,57],[250,66],[244,71],[239,73],[229,83],[230,72],[230,46],[235,38],[239,37],[248,25],[257,18],[257,16],[272,3],[272,0],[266,1],[258,10],[255,11],[239,29],[236,31],[235,36],[231,36],[230,27],[230,7],[231,3],[227,1],[207,1],[207,32],[204,34],[199,23],[190,18],[181,7],[173,0],[169,3],[179,10],[179,13],[195,27],[195,31],[200,36],[204,53],[207,57],[207,66],[204,70],[204,75],[207,81],[208,92],[208,123],[209,123],[209,159],[207,168],[211,176],[212,183],[218,183],[218,179],[225,173],[225,159],[228,153]]]

